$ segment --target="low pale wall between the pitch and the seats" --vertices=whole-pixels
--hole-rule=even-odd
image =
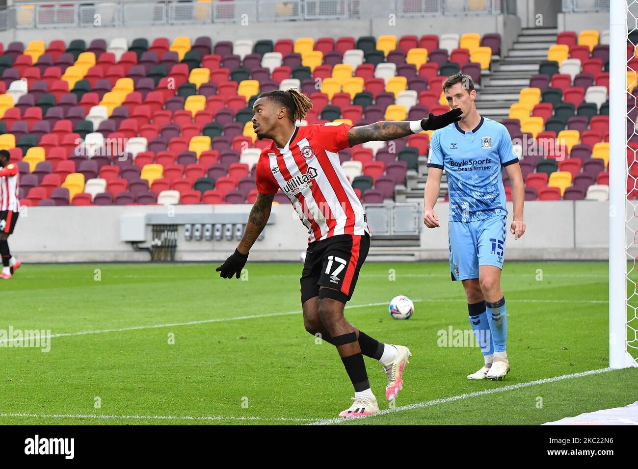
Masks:
[[[509,204],[511,218],[511,204]],[[11,252],[26,262],[111,262],[147,261],[146,251],[134,251],[120,241],[122,215],[242,213],[245,220],[251,205],[161,205],[110,207],[23,207],[15,232],[10,237]],[[436,205],[441,227],[420,230],[420,244],[414,247],[382,247],[373,242],[369,258],[377,260],[447,260],[447,204]],[[308,242],[308,234],[291,205],[275,205],[274,223],[265,229],[262,241],[251,251],[251,260],[298,261]],[[526,234],[514,241],[508,232],[508,260],[606,260],[608,253],[608,204],[592,201],[527,202]],[[145,230],[149,246],[151,227]],[[382,243],[377,243],[382,244]],[[223,260],[237,241],[185,241],[179,226],[175,260]],[[396,253],[396,255],[394,254]],[[399,253],[403,257],[399,256]],[[406,257],[410,253],[410,257]]]

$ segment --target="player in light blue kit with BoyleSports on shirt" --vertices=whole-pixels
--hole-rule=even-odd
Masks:
[[[481,117],[472,79],[456,73],[443,82],[450,107],[461,108],[461,120],[434,131],[430,142],[424,223],[438,227],[434,204],[445,169],[450,198],[450,271],[461,280],[470,324],[484,355],[484,366],[471,380],[502,380],[510,371],[505,350],[507,312],[501,291],[507,208],[502,168],[512,181],[514,239],[525,232],[524,186],[512,140],[502,124]],[[487,310],[487,311],[486,311]]]

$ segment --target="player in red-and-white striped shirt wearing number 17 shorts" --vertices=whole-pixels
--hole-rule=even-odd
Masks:
[[[312,107],[297,89],[262,93],[255,101],[257,138],[270,138],[256,169],[257,199],[235,253],[218,267],[223,278],[240,272],[248,251],[265,227],[278,190],[286,194],[308,229],[308,250],[300,279],[306,331],[336,346],[355,388],[354,403],[339,415],[378,412],[363,355],[383,364],[388,378],[385,397],[392,401],[403,386],[410,350],[384,344],[350,324],[343,309],[354,292],[370,246],[370,230],[359,198],[339,160],[339,151],[371,140],[392,140],[422,130],[436,130],[459,119],[453,110],[419,121],[382,121],[367,126],[315,124],[296,126]]]

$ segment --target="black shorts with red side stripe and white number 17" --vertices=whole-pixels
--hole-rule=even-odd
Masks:
[[[330,298],[345,303],[352,298],[359,271],[370,249],[370,235],[336,235],[313,241],[306,250],[301,274],[301,304],[319,295],[320,287],[333,288]]]

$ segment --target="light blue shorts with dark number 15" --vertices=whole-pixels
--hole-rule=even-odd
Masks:
[[[479,265],[503,269],[507,217],[478,221],[450,221],[450,271],[452,280],[479,278]]]

